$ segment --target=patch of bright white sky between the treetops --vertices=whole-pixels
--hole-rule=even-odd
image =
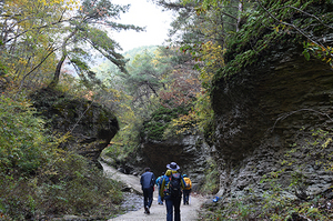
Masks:
[[[145,31],[112,32],[111,38],[120,43],[127,52],[141,46],[162,46],[168,38],[168,30],[172,21],[170,11],[162,11],[161,7],[148,0],[112,0],[115,4],[131,4],[127,13],[122,13],[119,23],[147,27]]]

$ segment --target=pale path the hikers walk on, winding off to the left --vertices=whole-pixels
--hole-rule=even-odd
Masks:
[[[140,178],[135,175],[127,175],[114,168],[107,165],[105,163],[101,162],[103,165],[104,172],[108,177],[112,179],[121,180],[122,182],[127,183],[131,188],[133,188],[138,192],[142,192],[140,185]],[[190,204],[183,205],[181,204],[181,220],[183,221],[194,221],[198,220],[198,210],[200,209],[201,204],[205,199],[201,195],[191,194],[190,197]],[[142,202],[143,205],[143,202]],[[165,205],[158,204],[158,191],[154,191],[153,203],[150,209],[150,214],[144,214],[143,207],[138,211],[128,212],[120,217],[113,218],[109,221],[160,221],[167,220],[167,209]]]

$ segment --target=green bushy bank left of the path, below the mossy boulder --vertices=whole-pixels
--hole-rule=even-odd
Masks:
[[[0,96],[0,215],[4,220],[118,213],[120,183],[87,159],[58,149],[67,137],[48,134],[20,93]],[[111,207],[114,205],[114,207]]]

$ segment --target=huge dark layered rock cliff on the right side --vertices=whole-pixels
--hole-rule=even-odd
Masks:
[[[210,142],[220,167],[220,194],[243,195],[250,189],[261,194],[269,188],[260,182],[263,175],[283,168],[284,187],[296,173],[309,194],[332,185],[332,173],[317,162],[333,150],[332,134],[319,140],[321,130],[332,131],[333,71],[320,60],[306,61],[302,51],[299,44],[276,44],[256,64],[214,82]]]

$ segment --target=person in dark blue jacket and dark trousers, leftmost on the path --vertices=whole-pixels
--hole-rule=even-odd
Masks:
[[[144,213],[150,214],[150,208],[153,201],[153,191],[155,183],[154,173],[150,171],[150,168],[144,169],[144,173],[141,175],[140,183],[143,191]]]

